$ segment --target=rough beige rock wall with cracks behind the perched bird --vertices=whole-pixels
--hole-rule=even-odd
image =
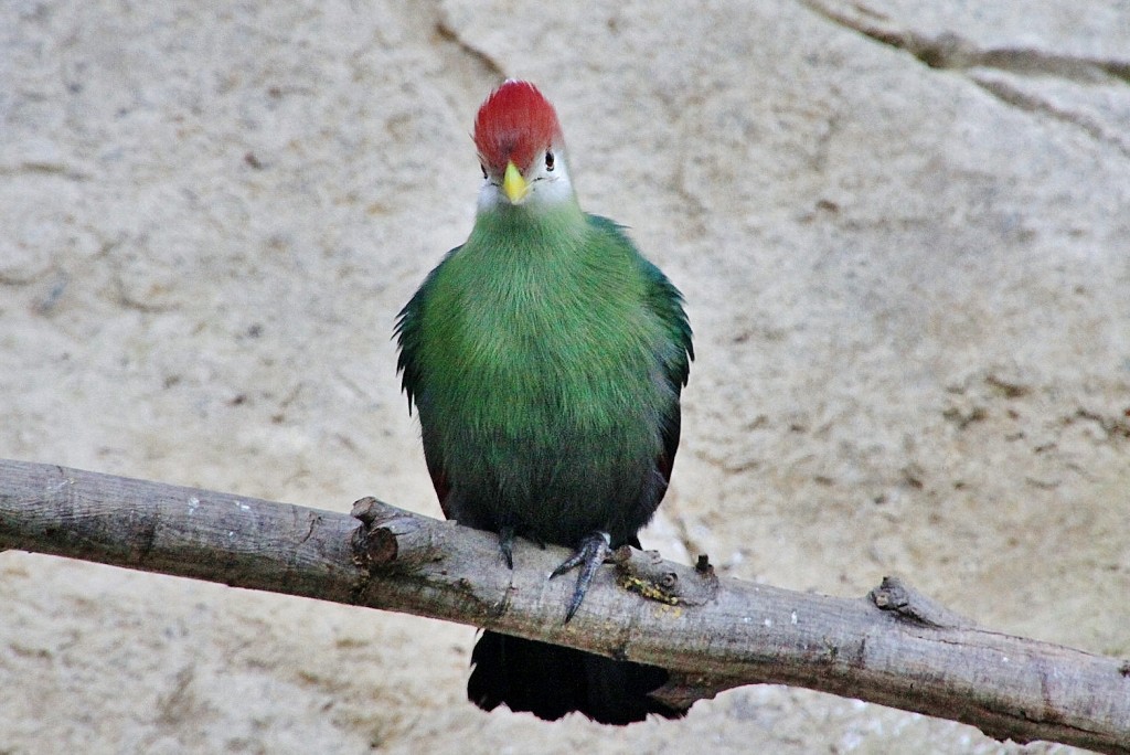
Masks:
[[[390,331],[528,77],[689,302],[646,545],[1128,656],[1130,10],[1053,5],[10,0],[0,455],[438,515]],[[5,553],[0,753],[1068,752],[780,687],[485,715],[472,636]]]

